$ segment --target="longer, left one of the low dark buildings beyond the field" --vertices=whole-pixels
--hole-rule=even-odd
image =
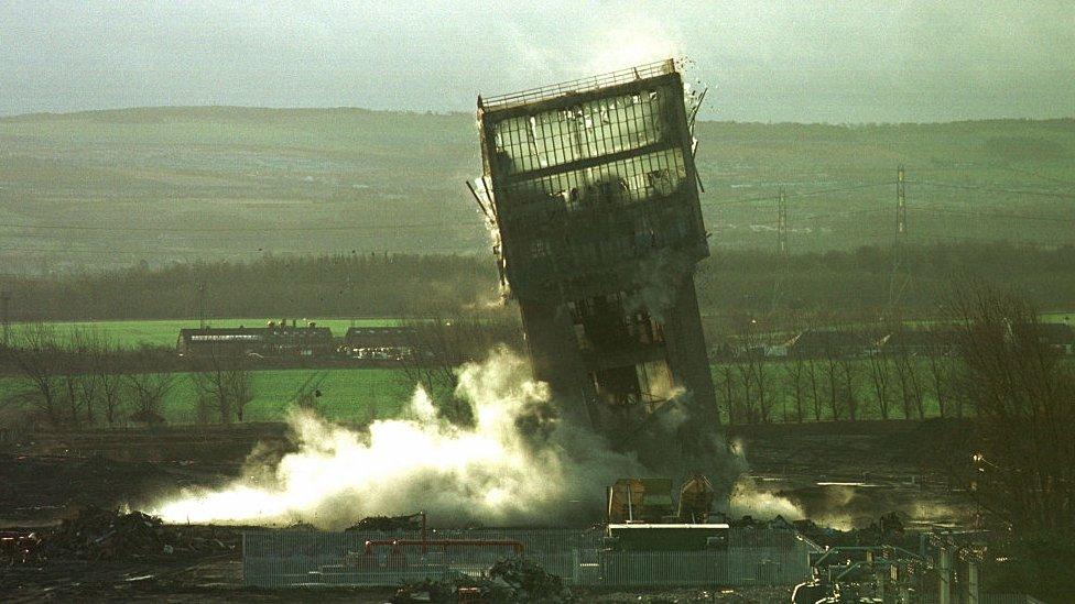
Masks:
[[[267,327],[206,327],[181,329],[175,344],[180,354],[213,352],[264,356],[321,356],[335,350],[327,327],[269,323]]]

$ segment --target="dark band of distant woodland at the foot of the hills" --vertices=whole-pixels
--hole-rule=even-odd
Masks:
[[[977,275],[1022,292],[1042,308],[1075,307],[1075,248],[1008,243],[909,246],[909,316],[944,312],[955,275]],[[715,248],[698,266],[703,315],[837,320],[890,305],[887,246],[781,255]],[[208,317],[394,317],[453,314],[499,299],[491,256],[333,254],[264,256],[250,263],[194,262],[162,268],[0,278],[11,321],[193,319]],[[726,328],[725,328],[726,329]]]

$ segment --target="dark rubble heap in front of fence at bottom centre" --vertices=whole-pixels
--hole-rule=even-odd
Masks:
[[[484,576],[463,573],[442,580],[426,579],[401,586],[392,602],[460,602],[473,597],[476,602],[513,603],[574,602],[564,580],[545,572],[540,564],[522,559],[507,559],[495,563]]]

